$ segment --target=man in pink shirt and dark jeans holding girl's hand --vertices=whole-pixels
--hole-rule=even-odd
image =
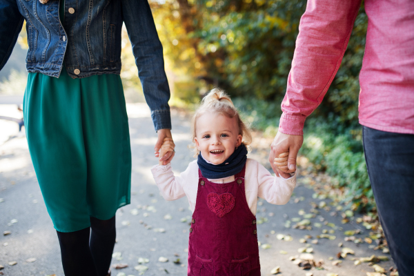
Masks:
[[[309,0],[269,161],[293,172],[306,117],[340,66],[361,0]],[[380,221],[400,275],[414,271],[414,1],[366,0],[359,123]],[[273,160],[289,151],[285,170]]]

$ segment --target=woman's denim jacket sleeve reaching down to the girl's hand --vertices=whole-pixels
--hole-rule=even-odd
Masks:
[[[146,102],[155,130],[171,129],[170,88],[164,71],[164,57],[147,0],[121,0],[122,17],[132,44]]]

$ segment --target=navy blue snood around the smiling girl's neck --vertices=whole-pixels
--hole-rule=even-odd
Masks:
[[[206,160],[201,156],[198,156],[197,164],[201,170],[203,177],[209,179],[218,179],[224,177],[230,177],[241,172],[247,160],[247,148],[244,144],[238,146],[226,161],[221,164],[215,165],[207,163]]]

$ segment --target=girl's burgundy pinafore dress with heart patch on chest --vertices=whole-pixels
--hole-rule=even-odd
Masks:
[[[188,243],[188,276],[259,276],[256,217],[248,208],[244,171],[217,184],[199,170]]]

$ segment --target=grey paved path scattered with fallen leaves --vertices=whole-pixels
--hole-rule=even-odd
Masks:
[[[153,157],[156,135],[148,108],[142,103],[128,104],[128,115],[132,146],[132,198],[130,205],[117,212],[115,253],[120,253],[121,257],[119,260],[112,259],[112,264],[124,263],[128,264],[128,268],[112,269],[112,275],[117,276],[118,273],[139,275],[139,272],[134,269],[138,265],[139,257],[149,260],[146,264],[148,270],[144,275],[186,275],[189,226],[188,222],[181,221],[190,220],[188,202],[186,198],[164,201],[154,185],[150,167],[157,164],[157,159]],[[173,112],[172,118],[173,137],[177,144],[177,155],[172,164],[175,171],[179,172],[184,170],[193,159],[192,153],[187,148],[190,144],[190,119],[177,111]],[[14,125],[10,126],[14,128]],[[10,131],[17,132],[17,130]],[[5,266],[0,271],[7,276],[53,274],[63,276],[57,235],[41,197],[26,138],[14,136],[12,133],[10,135],[12,135],[11,139],[0,145],[0,201],[2,201],[0,202],[0,231],[1,233],[6,230],[11,231],[10,235],[0,236],[0,265]],[[266,141],[260,143],[265,144]],[[265,160],[259,152],[253,152],[252,156]],[[373,272],[373,268],[366,263],[355,266],[350,257],[346,257],[342,264],[339,264],[340,266],[334,266],[333,261],[328,260],[329,257],[335,257],[340,252],[341,248],[337,246],[339,242],[355,250],[355,257],[386,255],[379,250],[368,248],[366,243],[344,242],[345,235],[343,231],[338,230],[338,227],[343,227],[343,230],[362,229],[359,224],[342,225],[340,217],[332,217],[325,210],[320,210],[319,215],[310,219],[314,225],[313,230],[284,226],[287,220],[310,213],[311,201],[317,201],[312,198],[312,195],[313,190],[306,188],[299,180],[295,195],[288,204],[274,206],[259,201],[257,219],[264,223],[258,225],[258,239],[262,245],[270,246],[268,249],[260,248],[262,275],[270,275],[270,270],[275,266],[280,266],[279,275],[284,276],[304,276],[307,272],[312,272],[314,276],[325,276],[328,273],[359,276],[366,275],[366,272]],[[314,223],[322,220],[335,226],[315,227]],[[164,228],[165,233],[161,233],[160,228]],[[310,271],[301,270],[288,260],[290,256],[299,255],[298,248],[305,246],[299,243],[299,239],[304,238],[305,235],[311,235],[315,239],[316,235],[322,234],[323,229],[334,230],[334,228],[335,233],[331,235],[335,235],[335,239],[319,239],[318,244],[311,246],[314,259],[316,261],[324,259],[325,270],[315,268]],[[290,235],[293,241],[279,240],[277,234]],[[364,233],[357,237],[364,238],[367,235],[368,230],[364,230]],[[308,243],[310,242],[311,239],[308,239]],[[159,257],[166,257],[169,261],[158,262]],[[26,262],[30,258],[35,258],[36,261]],[[176,259],[180,259],[181,264],[174,264],[173,261]],[[9,262],[17,262],[17,264],[10,266]],[[380,266],[388,269],[393,266],[393,263],[381,262]]]

